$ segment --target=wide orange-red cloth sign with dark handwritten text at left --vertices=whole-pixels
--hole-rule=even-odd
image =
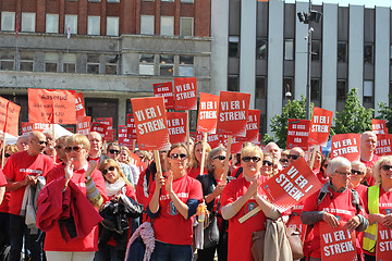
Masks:
[[[27,89],[28,120],[33,123],[75,124],[75,91]]]

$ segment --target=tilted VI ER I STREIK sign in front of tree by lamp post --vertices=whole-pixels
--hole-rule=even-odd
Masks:
[[[310,125],[309,144],[326,145],[331,129],[333,112],[315,107]]]

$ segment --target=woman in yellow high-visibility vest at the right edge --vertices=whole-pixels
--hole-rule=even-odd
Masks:
[[[377,229],[382,224],[388,235],[392,233],[392,156],[381,157],[375,164],[376,185],[368,188],[366,210],[369,213],[370,226],[364,233],[365,260],[376,260]],[[387,259],[385,259],[387,260]]]

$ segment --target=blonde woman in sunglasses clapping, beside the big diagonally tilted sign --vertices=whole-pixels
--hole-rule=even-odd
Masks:
[[[229,183],[222,192],[222,216],[229,220],[229,261],[253,261],[253,232],[266,229],[266,219],[277,220],[279,211],[265,198],[261,184],[267,177],[261,176],[262,151],[259,147],[248,145],[241,151],[243,176]],[[240,219],[259,206],[261,211],[250,216],[246,224]]]

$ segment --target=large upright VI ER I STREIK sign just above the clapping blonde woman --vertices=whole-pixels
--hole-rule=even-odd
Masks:
[[[221,91],[217,123],[218,134],[246,136],[249,101],[249,94]]]

